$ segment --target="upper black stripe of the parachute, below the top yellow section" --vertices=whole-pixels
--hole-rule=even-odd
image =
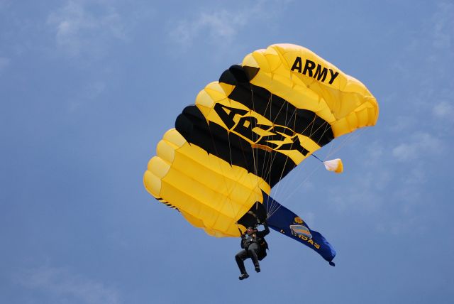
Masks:
[[[219,82],[235,85],[228,98],[244,104],[254,112],[264,116],[274,124],[286,126],[299,134],[309,137],[325,146],[334,139],[333,130],[327,121],[321,119],[314,112],[306,109],[297,109],[287,100],[272,94],[267,89],[250,84],[247,79],[252,79],[258,72],[253,67],[232,65],[223,72]]]

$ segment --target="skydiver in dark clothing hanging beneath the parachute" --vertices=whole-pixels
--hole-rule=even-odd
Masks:
[[[238,264],[238,268],[240,268],[241,272],[239,277],[240,280],[249,278],[244,266],[245,259],[252,259],[255,271],[260,272],[260,264],[258,261],[261,261],[267,255],[266,249],[268,248],[268,245],[265,241],[265,235],[270,233],[270,229],[266,223],[263,224],[263,227],[265,227],[265,230],[262,231],[258,231],[254,227],[248,227],[246,232],[241,235],[241,248],[243,248],[243,250],[238,252],[235,256],[236,264]]]

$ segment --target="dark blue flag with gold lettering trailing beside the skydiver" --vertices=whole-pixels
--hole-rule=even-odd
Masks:
[[[336,250],[326,241],[323,235],[311,230],[309,225],[301,217],[280,205],[279,202],[275,201],[265,192],[262,192],[262,195],[263,206],[270,213],[270,217],[267,219],[269,227],[314,249],[331,266],[334,266],[333,259],[336,256]]]

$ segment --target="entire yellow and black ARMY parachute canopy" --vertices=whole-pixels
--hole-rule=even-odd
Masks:
[[[238,237],[264,193],[321,146],[375,125],[378,112],[365,85],[338,67],[298,45],[271,45],[179,114],[148,163],[145,188],[207,234]]]

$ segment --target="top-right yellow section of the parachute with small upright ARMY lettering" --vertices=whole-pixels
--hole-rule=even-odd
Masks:
[[[326,67],[339,74],[330,84],[328,81],[317,80],[297,70],[292,71],[290,69],[297,57],[301,58],[303,66],[305,60],[311,60],[316,65],[321,65],[321,67]],[[355,130],[361,126],[372,126],[377,121],[378,104],[365,85],[354,77],[346,75],[338,67],[323,60],[311,50],[299,45],[271,45],[266,50],[256,50],[245,57],[243,66],[260,68],[258,75],[251,83],[265,87],[299,109],[314,111],[322,119],[332,124],[334,134],[345,134],[348,130]],[[331,74],[328,71],[326,80],[330,77]],[[293,90],[293,92],[289,93],[289,90]],[[311,93],[302,93],[305,90]],[[319,99],[307,98],[308,96],[318,96]],[[351,113],[364,104],[370,108],[367,110],[369,112],[367,121],[359,119],[357,120],[359,124],[354,124],[355,117],[351,116]]]

